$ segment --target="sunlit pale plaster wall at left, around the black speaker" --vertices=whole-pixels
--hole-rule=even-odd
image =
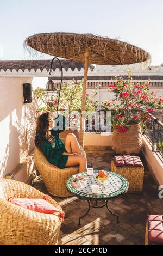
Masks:
[[[23,103],[22,87],[32,79],[0,77],[0,178],[12,173],[34,148],[36,102]]]

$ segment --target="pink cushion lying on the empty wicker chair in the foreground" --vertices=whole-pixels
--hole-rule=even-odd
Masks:
[[[43,214],[56,214],[59,217],[64,218],[65,213],[59,211],[52,204],[48,203],[47,200],[51,198],[48,195],[41,198],[9,198],[8,202],[18,205],[28,210],[41,212]]]

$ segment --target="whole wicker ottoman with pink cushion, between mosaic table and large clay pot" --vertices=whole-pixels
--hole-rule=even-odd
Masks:
[[[129,189],[127,193],[142,192],[144,167],[139,156],[115,156],[111,160],[111,170],[128,180]]]

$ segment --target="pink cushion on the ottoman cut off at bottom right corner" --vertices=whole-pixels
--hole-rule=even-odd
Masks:
[[[162,215],[148,215],[149,243],[163,243],[163,217]]]

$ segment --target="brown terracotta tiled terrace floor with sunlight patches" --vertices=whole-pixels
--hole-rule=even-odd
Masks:
[[[112,156],[112,153],[89,153],[87,160],[93,163],[94,169],[109,170]],[[48,193],[42,182],[34,186]],[[147,214],[163,214],[163,199],[158,198],[158,187],[146,164],[143,192],[111,200],[110,208],[120,216],[120,223],[116,223],[116,217],[109,214],[105,207],[91,208],[79,227],[78,218],[86,212],[87,202],[76,197],[53,198],[66,214],[61,225],[60,245],[143,245]]]

